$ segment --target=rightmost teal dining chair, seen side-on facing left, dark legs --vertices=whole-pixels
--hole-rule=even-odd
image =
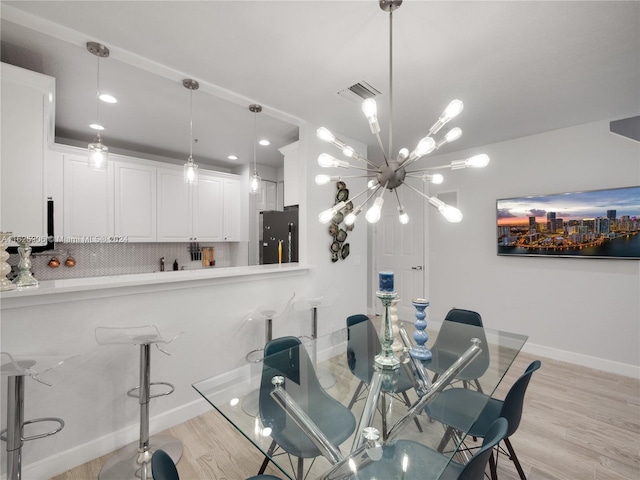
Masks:
[[[525,372],[511,386],[504,400],[489,397],[483,393],[466,388],[452,388],[442,392],[425,408],[430,418],[447,426],[438,447],[442,451],[455,431],[466,431],[468,436],[485,437],[492,422],[504,417],[509,422],[509,429],[504,438],[508,456],[513,461],[521,480],[526,476],[518,460],[509,437],[513,435],[522,418],[524,395],[533,373],[542,364],[539,360],[531,362]],[[496,480],[497,476],[492,476]]]

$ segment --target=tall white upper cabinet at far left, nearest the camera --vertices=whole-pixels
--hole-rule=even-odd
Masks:
[[[54,138],[55,79],[1,64],[0,230],[46,243],[45,155]]]

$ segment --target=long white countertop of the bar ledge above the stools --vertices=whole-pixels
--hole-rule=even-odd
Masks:
[[[1,292],[0,308],[4,310],[26,305],[58,303],[69,300],[69,295],[83,299],[98,298],[193,288],[216,283],[246,282],[273,278],[273,275],[304,275],[310,268],[299,263],[284,263],[44,280],[36,287]]]

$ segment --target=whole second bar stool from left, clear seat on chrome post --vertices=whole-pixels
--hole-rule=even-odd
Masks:
[[[100,480],[151,480],[151,457],[155,450],[164,450],[174,463],[182,457],[182,442],[171,435],[149,437],[149,401],[152,398],[170,395],[175,387],[167,382],[151,382],[151,344],[166,355],[159,343],[171,343],[182,332],[165,339],[155,325],[138,327],[96,327],[96,341],[100,345],[140,345],[140,384],[127,392],[140,403],[140,438],[118,450],[100,470]],[[167,391],[151,394],[153,385],[168,387]]]

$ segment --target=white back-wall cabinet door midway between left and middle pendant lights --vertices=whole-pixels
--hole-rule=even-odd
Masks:
[[[115,235],[129,242],[156,241],[156,168],[114,162]]]

